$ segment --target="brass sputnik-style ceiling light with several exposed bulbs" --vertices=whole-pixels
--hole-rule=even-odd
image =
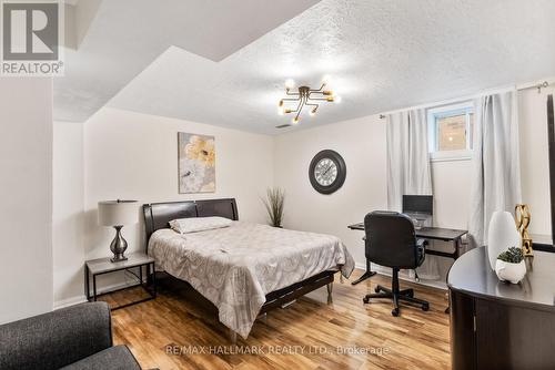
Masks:
[[[335,93],[331,90],[324,90],[326,85],[327,81],[324,79],[322,85],[317,90],[311,89],[310,86],[299,86],[297,92],[292,92],[291,90],[294,86],[294,82],[293,80],[287,80],[285,82],[285,94],[287,97],[280,100],[280,103],[278,104],[278,114],[283,115],[294,113],[295,116],[291,120],[291,123],[282,124],[275,127],[283,129],[297,124],[301,112],[305,106],[310,107],[309,114],[314,116],[320,107],[320,102],[340,103],[341,96],[335,95]],[[293,109],[295,105],[296,109]]]

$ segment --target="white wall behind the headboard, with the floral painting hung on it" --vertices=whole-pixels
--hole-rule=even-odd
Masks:
[[[216,192],[178,193],[178,132],[214,135]],[[243,220],[264,223],[260,196],[273,184],[273,140],[206,124],[104,107],[84,124],[87,259],[110,255],[114,230],[97,224],[99,201],[139,201],[139,224],[123,228],[129,251],[143,250],[143,203],[235,197]]]

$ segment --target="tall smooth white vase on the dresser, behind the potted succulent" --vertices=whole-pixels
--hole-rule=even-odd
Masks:
[[[508,212],[496,210],[490,220],[487,232],[487,256],[490,266],[495,270],[497,256],[511,247],[521,245],[521,236],[516,230],[515,219]]]

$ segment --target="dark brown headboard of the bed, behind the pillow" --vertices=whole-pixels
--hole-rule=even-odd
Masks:
[[[144,232],[147,233],[147,248],[152,233],[161,228],[169,228],[172,219],[209,216],[239,219],[238,205],[234,198],[151,203],[144,204],[142,210]]]

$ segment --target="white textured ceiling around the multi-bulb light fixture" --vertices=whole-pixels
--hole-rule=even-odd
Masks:
[[[463,96],[555,75],[554,13],[553,0],[323,0],[220,62],[151,48],[163,53],[109,105],[275,134]],[[324,74],[342,103],[275,130],[283,82]]]

